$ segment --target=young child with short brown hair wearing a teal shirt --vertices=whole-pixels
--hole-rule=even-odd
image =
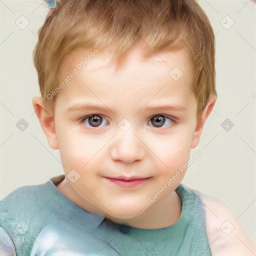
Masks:
[[[38,35],[32,101],[64,175],[1,201],[0,255],[255,255],[221,201],[181,184],[216,100],[199,5],[63,0]]]

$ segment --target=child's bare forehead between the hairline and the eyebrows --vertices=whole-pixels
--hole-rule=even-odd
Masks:
[[[96,54],[93,49],[73,51],[64,59],[59,81],[74,69],[77,74],[58,93],[57,98],[61,97],[63,102],[70,104],[88,98],[102,104],[104,99],[112,107],[124,103],[126,106],[136,104],[139,107],[148,100],[160,103],[164,98],[166,102],[171,99],[184,107],[194,103],[194,70],[186,49],[156,53],[146,51],[145,47],[145,43],[136,45],[112,62],[112,53],[107,49],[98,50]]]

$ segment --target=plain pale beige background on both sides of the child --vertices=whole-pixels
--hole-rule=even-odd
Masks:
[[[248,0],[198,2],[215,33],[218,98],[199,145],[191,151],[202,155],[189,166],[184,183],[223,200],[256,242],[256,5]],[[63,173],[59,153],[47,145],[31,103],[39,95],[31,52],[47,10],[39,0],[0,1],[0,198]],[[15,23],[21,15],[23,25],[29,22],[23,29]],[[16,127],[21,118],[28,123],[23,131]],[[226,123],[221,126],[226,118],[228,131],[222,127]]]

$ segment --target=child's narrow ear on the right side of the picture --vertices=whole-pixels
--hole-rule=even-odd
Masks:
[[[193,133],[193,138],[192,138],[192,143],[191,143],[191,148],[195,148],[200,140],[202,129],[204,126],[204,123],[209,116],[215,102],[216,102],[217,96],[211,96],[210,99],[208,100],[207,105],[205,106],[203,112],[200,114],[200,116],[197,119],[196,127]]]

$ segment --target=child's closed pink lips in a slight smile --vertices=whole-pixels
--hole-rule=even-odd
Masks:
[[[121,186],[121,187],[135,187],[140,184],[143,184],[148,180],[150,177],[136,177],[136,176],[131,176],[131,177],[125,177],[125,176],[118,176],[118,177],[105,177],[107,180],[113,182],[114,184]]]

